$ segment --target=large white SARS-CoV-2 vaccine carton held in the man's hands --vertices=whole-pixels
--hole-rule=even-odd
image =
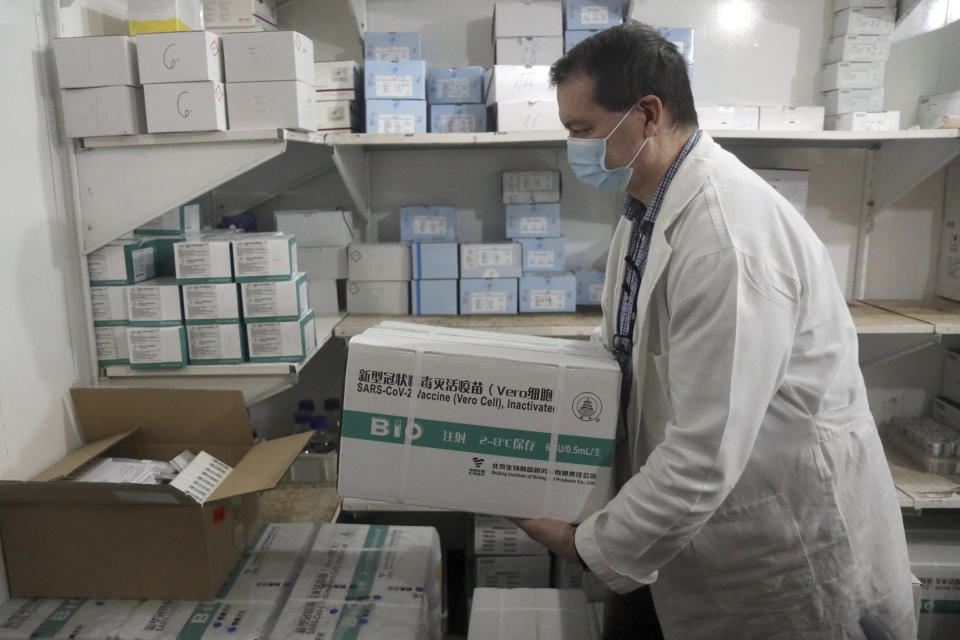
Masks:
[[[461,291],[468,282],[461,281]],[[512,279],[484,284],[496,282],[516,286]],[[420,377],[411,381],[415,364]],[[439,378],[457,379],[464,391],[433,384]],[[610,494],[619,378],[612,358],[456,344],[429,334],[355,336],[347,356],[339,493],[578,522]],[[415,406],[406,389],[418,398]],[[559,458],[551,463],[554,432]],[[544,476],[553,482],[549,504]]]

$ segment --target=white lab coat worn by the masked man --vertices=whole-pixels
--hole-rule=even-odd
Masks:
[[[621,220],[608,348],[629,237]],[[866,614],[916,637],[857,347],[826,248],[702,134],[664,199],[638,295],[624,484],[576,532],[611,589],[656,581],[668,640],[863,638]]]

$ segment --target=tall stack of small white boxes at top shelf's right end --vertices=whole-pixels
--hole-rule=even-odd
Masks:
[[[823,68],[826,128],[895,131],[899,111],[883,111],[884,63],[896,26],[896,0],[834,0]]]

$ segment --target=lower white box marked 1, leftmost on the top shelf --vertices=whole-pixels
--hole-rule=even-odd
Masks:
[[[146,133],[143,89],[138,87],[98,87],[64,89],[63,135],[68,138],[125,136]]]

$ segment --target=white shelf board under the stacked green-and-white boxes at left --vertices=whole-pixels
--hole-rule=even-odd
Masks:
[[[333,337],[345,314],[318,315],[314,321],[317,346],[302,362],[247,362],[234,365],[191,365],[180,369],[132,369],[110,366],[101,370],[100,385],[107,387],[239,389],[247,404],[254,404],[297,383],[300,372]]]

